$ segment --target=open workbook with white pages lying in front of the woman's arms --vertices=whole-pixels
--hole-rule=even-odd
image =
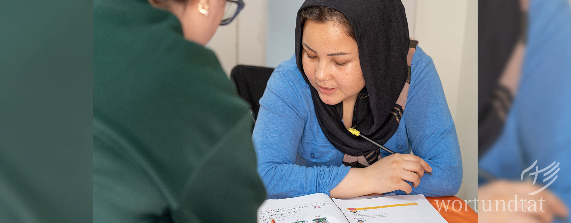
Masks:
[[[446,222],[423,194],[330,198],[317,193],[266,200],[258,208],[258,223]]]

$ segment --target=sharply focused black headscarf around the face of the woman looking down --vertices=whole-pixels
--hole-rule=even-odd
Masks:
[[[362,94],[353,111],[353,126],[371,140],[385,144],[396,132],[399,121],[391,114],[407,81],[409,49],[408,23],[400,0],[307,0],[297,12],[295,54],[297,68],[311,89],[317,121],[325,137],[337,149],[351,156],[363,156],[379,149],[353,136],[341,122],[343,102],[327,105],[309,83],[301,64],[303,23],[300,11],[310,6],[328,6],[340,11],[353,26],[359,60],[365,79]]]

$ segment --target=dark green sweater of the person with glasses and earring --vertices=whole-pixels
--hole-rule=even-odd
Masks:
[[[248,105],[146,0],[94,0],[94,222],[255,222]]]

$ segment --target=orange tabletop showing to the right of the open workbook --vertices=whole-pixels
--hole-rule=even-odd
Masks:
[[[439,213],[448,222],[478,222],[478,214],[460,198],[455,196],[427,197],[427,200],[436,210],[439,210],[438,206],[440,206]],[[437,202],[438,205],[436,205]]]

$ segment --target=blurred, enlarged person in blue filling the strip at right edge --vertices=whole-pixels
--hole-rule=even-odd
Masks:
[[[571,222],[569,1],[478,13],[478,221]]]

